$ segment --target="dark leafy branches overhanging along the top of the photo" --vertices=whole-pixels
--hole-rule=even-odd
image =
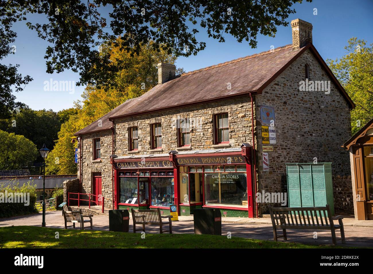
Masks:
[[[307,0],[311,1],[311,0]],[[224,34],[256,47],[257,34],[274,36],[277,26],[287,26],[291,6],[302,0],[68,0],[1,1],[3,7],[3,51],[16,37],[11,31],[16,21],[26,21],[30,13],[46,17],[46,23],[27,22],[40,38],[51,43],[46,49],[47,72],[78,72],[78,85],[101,86],[114,80],[115,73],[128,66],[110,62],[110,54],[100,54],[104,42],[115,42],[121,36],[120,49],[134,56],[142,45],[152,40],[153,50],[164,50],[174,56],[196,55],[206,47],[197,40],[199,25],[209,37],[224,42]],[[106,10],[103,10],[105,8]],[[109,9],[109,17],[103,13]],[[107,22],[110,21],[110,26]],[[104,72],[104,73],[102,73]]]

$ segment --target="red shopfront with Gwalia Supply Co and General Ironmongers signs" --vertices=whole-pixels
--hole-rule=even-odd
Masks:
[[[253,217],[251,147],[241,151],[169,157],[113,158],[115,208],[178,206],[179,215],[196,208],[219,208],[228,217]],[[155,155],[154,155],[155,156]]]

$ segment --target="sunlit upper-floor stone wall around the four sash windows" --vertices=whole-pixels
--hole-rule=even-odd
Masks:
[[[229,144],[214,145],[214,114],[228,113]],[[202,105],[156,112],[115,120],[115,155],[136,155],[145,153],[168,153],[178,148],[178,132],[174,126],[176,119],[190,118],[197,125],[191,129],[191,147],[188,149],[211,149],[240,147],[251,143],[251,103],[250,97],[239,97]],[[151,124],[162,123],[162,149],[151,149]],[[138,127],[138,151],[128,151],[128,129]]]

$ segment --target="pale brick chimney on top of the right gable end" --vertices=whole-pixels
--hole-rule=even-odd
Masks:
[[[291,21],[291,32],[293,37],[293,49],[304,47],[312,43],[312,24],[301,19]]]

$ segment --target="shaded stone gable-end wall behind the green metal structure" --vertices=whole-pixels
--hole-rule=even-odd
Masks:
[[[309,66],[309,80],[330,81],[330,94],[324,91],[300,91],[299,83],[305,80],[304,65]],[[350,175],[348,151],[341,145],[351,137],[350,111],[347,101],[327,76],[310,50],[305,51],[285,69],[261,95],[256,95],[258,190],[282,192],[286,184],[285,163],[332,162],[334,176]],[[269,154],[269,171],[263,171],[260,105],[274,107],[276,118],[276,144]],[[267,145],[267,144],[264,144]],[[346,183],[335,196],[335,210],[349,201],[351,183]],[[339,185],[339,187],[341,187]],[[336,191],[336,189],[335,189]],[[352,201],[351,201],[352,202]],[[260,204],[266,213],[268,204]]]

